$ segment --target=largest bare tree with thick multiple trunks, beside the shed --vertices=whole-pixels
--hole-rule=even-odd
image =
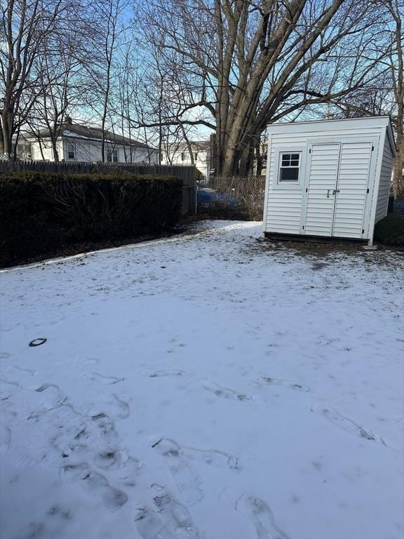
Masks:
[[[377,10],[364,0],[155,0],[137,31],[182,78],[181,112],[166,124],[215,130],[222,175],[251,169],[267,124],[386,69]],[[201,109],[209,117],[195,117]]]

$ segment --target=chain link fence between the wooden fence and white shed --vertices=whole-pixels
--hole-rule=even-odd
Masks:
[[[215,219],[261,221],[264,176],[216,176],[198,186],[198,213]]]

